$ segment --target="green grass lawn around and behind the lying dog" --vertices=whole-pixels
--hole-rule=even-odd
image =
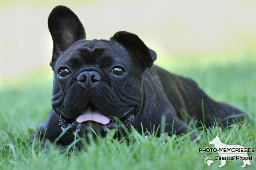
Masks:
[[[165,63],[169,62],[164,61]],[[158,65],[179,75],[196,80],[201,88],[215,100],[242,108],[256,117],[256,62],[253,59],[203,64],[200,59],[172,59]],[[183,65],[184,64],[184,65]],[[42,69],[40,69],[42,70]],[[50,70],[50,68],[48,68]],[[196,130],[196,141],[184,137],[168,137],[162,134],[144,135],[132,131],[122,139],[108,137],[92,140],[78,138],[84,144],[78,150],[74,145],[59,147],[49,144],[44,151],[39,143],[30,143],[31,129],[45,121],[51,107],[52,73],[37,73],[15,81],[0,84],[0,169],[219,169],[221,161],[208,167],[203,161],[206,155],[200,147],[208,144],[217,134],[226,144],[244,147],[256,146],[256,125],[252,120],[236,124],[230,129],[218,127]],[[193,127],[192,121],[189,123]],[[75,141],[75,142],[77,142]],[[215,155],[211,156],[215,159]],[[256,168],[256,154],[252,154],[251,166]],[[239,169],[242,161],[227,161],[222,169]]]

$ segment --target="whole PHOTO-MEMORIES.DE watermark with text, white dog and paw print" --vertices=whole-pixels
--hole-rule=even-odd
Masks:
[[[200,154],[218,154],[215,155],[215,159],[209,156],[204,158],[204,163],[208,166],[211,166],[214,160],[221,160],[219,167],[225,166],[227,160],[241,160],[244,163],[241,167],[251,165],[250,160],[252,160],[252,156],[248,156],[248,154],[254,153],[255,148],[245,148],[241,145],[227,145],[221,142],[218,135],[209,144],[214,145],[214,148],[199,148]]]

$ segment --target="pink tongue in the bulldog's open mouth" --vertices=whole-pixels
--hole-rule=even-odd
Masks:
[[[80,115],[80,116],[78,116],[78,118],[76,118],[76,122],[78,122],[78,123],[83,123],[83,122],[87,122],[87,121],[93,121],[93,122],[97,122],[97,123],[101,123],[101,124],[108,124],[110,119],[108,117],[100,114],[97,111],[83,112],[82,115]]]

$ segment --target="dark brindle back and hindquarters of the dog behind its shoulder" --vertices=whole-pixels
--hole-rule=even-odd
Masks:
[[[183,110],[203,122],[203,100],[206,126],[212,126],[215,118],[218,123],[222,122],[223,126],[226,126],[227,118],[228,125],[244,119],[243,111],[226,103],[215,102],[192,79],[169,73],[158,66],[153,66],[148,71],[157,74],[159,77],[163,91],[170,103],[172,103],[178,118],[185,118],[185,121],[188,121],[188,117],[185,114],[181,114]]]

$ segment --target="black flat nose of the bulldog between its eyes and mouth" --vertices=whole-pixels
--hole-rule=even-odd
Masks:
[[[91,87],[97,84],[100,79],[101,77],[96,71],[84,71],[77,77],[78,82],[86,87]]]

